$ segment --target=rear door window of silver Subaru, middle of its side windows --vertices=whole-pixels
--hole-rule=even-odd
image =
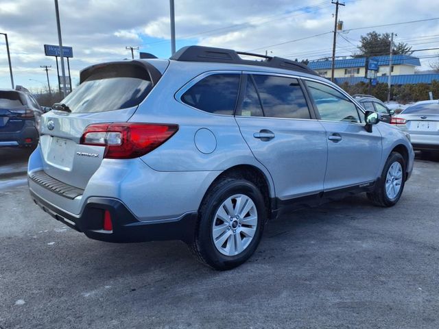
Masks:
[[[307,101],[297,79],[253,75],[265,117],[311,119]]]

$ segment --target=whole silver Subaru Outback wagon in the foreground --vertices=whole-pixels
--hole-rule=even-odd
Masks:
[[[240,55],[191,46],[81,71],[42,117],[34,202],[91,239],[185,241],[215,269],[244,263],[294,208],[361,192],[398,202],[405,132],[307,66]]]

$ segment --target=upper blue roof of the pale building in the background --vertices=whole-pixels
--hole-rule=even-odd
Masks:
[[[378,61],[378,66],[388,66],[390,63],[390,56],[375,56],[371,57],[372,60]],[[419,58],[408,55],[394,55],[392,56],[392,65],[414,65],[420,66]],[[309,62],[310,69],[323,70],[331,69],[332,60],[320,60],[316,62]],[[335,69],[348,69],[351,67],[364,67],[366,66],[366,58],[348,58],[346,60],[335,60]]]

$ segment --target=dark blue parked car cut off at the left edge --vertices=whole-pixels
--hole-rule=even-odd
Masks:
[[[27,89],[0,89],[0,147],[36,147],[41,114]]]

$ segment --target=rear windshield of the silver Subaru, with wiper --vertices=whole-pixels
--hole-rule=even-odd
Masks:
[[[151,89],[152,82],[145,69],[110,64],[89,75],[61,102],[69,106],[72,113],[121,110],[139,105]]]

